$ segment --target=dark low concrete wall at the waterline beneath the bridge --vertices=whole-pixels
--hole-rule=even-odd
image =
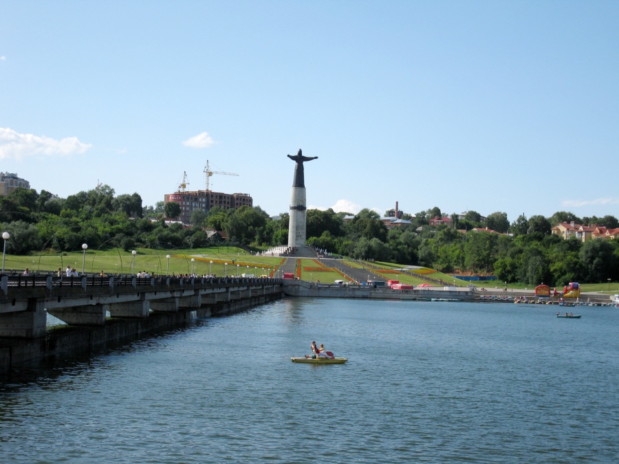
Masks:
[[[43,361],[63,360],[119,346],[158,331],[173,329],[195,318],[226,316],[281,298],[281,293],[219,302],[199,309],[149,313],[147,318],[109,318],[102,327],[57,327],[32,340],[0,339],[0,371]]]

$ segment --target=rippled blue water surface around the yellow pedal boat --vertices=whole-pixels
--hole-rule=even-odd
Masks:
[[[3,377],[2,462],[616,462],[619,311],[281,300]],[[290,362],[324,343],[339,366]]]

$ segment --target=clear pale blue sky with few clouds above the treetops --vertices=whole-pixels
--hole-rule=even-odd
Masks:
[[[617,1],[63,1],[0,7],[0,171],[144,205],[619,217]]]

